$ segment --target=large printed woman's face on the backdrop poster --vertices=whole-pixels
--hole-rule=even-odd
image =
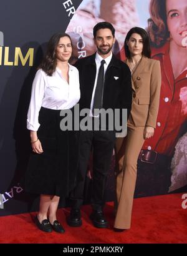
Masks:
[[[187,1],[166,0],[167,25],[171,40],[178,46],[187,46]]]

